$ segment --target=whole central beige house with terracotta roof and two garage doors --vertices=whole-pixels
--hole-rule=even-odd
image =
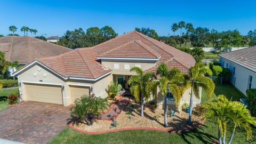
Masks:
[[[22,99],[58,103],[69,106],[81,95],[95,93],[106,98],[111,81],[122,83],[134,72],[132,67],[156,71],[165,62],[169,68],[188,73],[195,65],[194,58],[137,31],[110,39],[99,45],[76,49],[55,57],[38,59],[18,70]],[[129,88],[126,84],[125,88]],[[181,103],[189,102],[190,90]],[[172,94],[167,94],[169,106],[174,106]],[[157,91],[158,105],[163,96]],[[194,99],[195,104],[201,99]]]

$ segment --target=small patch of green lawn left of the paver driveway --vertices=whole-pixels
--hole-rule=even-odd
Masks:
[[[18,91],[18,87],[14,89],[0,90],[0,111],[8,108],[8,95]]]

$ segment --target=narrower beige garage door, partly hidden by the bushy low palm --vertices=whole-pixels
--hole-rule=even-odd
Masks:
[[[76,99],[80,99],[83,95],[89,95],[89,92],[89,86],[70,85],[71,102],[74,103]]]

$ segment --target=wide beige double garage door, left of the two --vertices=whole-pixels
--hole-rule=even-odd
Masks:
[[[24,84],[27,100],[63,105],[60,85]]]

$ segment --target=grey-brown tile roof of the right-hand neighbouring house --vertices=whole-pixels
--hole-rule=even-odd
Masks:
[[[256,72],[256,46],[219,54],[220,57]]]

